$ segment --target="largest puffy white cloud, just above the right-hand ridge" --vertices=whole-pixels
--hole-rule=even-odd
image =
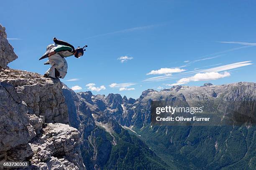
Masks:
[[[178,80],[174,84],[169,84],[169,86],[187,84],[188,82],[191,82],[191,81],[217,80],[217,79],[228,77],[228,76],[230,76],[229,72],[224,72],[223,74],[218,72],[197,73],[192,77],[185,77]]]

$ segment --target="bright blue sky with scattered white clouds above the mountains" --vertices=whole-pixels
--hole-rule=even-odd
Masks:
[[[44,74],[38,59],[52,38],[84,56],[68,57],[64,80],[78,91],[120,93],[172,85],[256,81],[256,1],[94,0],[1,3],[0,23],[18,59],[15,69]],[[87,85],[87,86],[86,86]]]

